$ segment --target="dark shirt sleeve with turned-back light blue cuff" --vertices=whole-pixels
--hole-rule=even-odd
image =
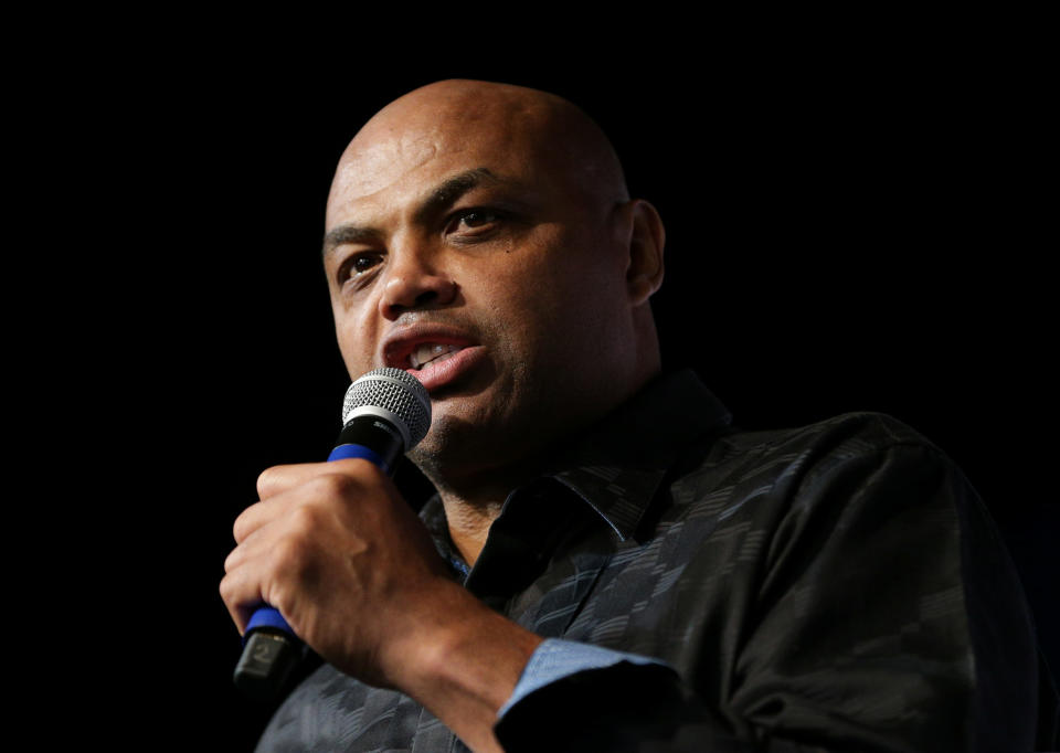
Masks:
[[[648,657],[549,640],[499,714],[505,749],[1048,745],[1029,611],[960,470],[934,448],[897,447],[831,458],[795,486],[740,650],[714,667],[732,678],[727,697],[707,702],[709,680]]]

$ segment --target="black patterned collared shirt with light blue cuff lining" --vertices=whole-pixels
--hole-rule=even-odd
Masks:
[[[884,415],[748,432],[656,380],[516,489],[454,577],[548,640],[508,751],[1030,751],[1056,744],[1018,579],[954,464]],[[1038,747],[1036,747],[1038,745]],[[467,750],[330,666],[261,751]]]

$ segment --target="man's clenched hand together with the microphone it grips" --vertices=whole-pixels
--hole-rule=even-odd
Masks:
[[[295,634],[331,664],[370,675],[356,656],[378,643],[371,634],[386,629],[386,609],[407,607],[386,603],[400,593],[391,582],[444,576],[426,530],[386,478],[426,436],[426,390],[400,369],[369,372],[347,391],[343,424],[328,463],[265,471],[262,501],[234,527],[221,593],[244,630],[235,683],[257,698],[272,697],[300,658]],[[369,605],[378,613],[354,614]]]

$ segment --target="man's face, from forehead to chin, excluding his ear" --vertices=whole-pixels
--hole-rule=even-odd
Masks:
[[[356,378],[432,396],[421,465],[474,471],[614,405],[635,359],[628,235],[523,112],[384,110],[343,155],[325,268]]]

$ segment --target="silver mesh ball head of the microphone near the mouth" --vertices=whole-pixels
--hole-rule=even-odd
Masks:
[[[399,428],[409,434],[405,452],[420,444],[431,428],[431,397],[420,380],[401,369],[375,369],[350,384],[342,402],[342,424],[372,409],[388,411],[402,422]]]

